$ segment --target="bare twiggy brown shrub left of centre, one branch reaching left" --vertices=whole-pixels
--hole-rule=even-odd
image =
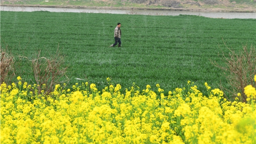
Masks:
[[[49,94],[54,90],[56,84],[68,81],[67,67],[62,67],[64,57],[58,53],[58,50],[50,58],[40,57],[40,52],[38,52],[37,58],[30,61],[32,62],[34,79],[38,85],[38,93],[44,90],[44,94]],[[62,81],[64,76],[66,80]]]

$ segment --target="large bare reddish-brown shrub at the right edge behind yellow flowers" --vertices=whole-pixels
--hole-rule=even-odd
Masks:
[[[225,44],[226,45],[226,44]],[[226,46],[226,48],[228,48]],[[228,83],[232,86],[231,90],[225,89],[230,93],[229,100],[234,100],[238,93],[241,94],[240,101],[246,102],[246,95],[244,94],[244,87],[247,85],[256,86],[253,78],[256,75],[256,51],[255,47],[251,46],[247,48],[243,46],[243,50],[236,53],[231,50],[228,57],[222,52],[222,61],[224,66],[212,62],[214,66],[220,68],[227,78]]]

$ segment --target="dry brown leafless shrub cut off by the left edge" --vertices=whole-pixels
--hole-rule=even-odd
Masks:
[[[12,53],[8,52],[8,45],[4,49],[0,47],[0,53],[0,84],[2,84],[2,82],[8,83],[9,81],[11,81],[11,75],[15,75],[14,68],[12,67],[15,59],[14,56],[12,56]]]

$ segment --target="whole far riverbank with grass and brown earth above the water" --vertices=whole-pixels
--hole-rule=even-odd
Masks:
[[[4,0],[2,5],[71,8],[143,8],[207,11],[255,11],[256,0]]]

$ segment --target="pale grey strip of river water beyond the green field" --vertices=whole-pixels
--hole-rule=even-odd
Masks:
[[[199,11],[180,11],[180,10],[113,10],[113,9],[74,9],[74,8],[45,8],[45,7],[16,7],[1,6],[1,11],[15,12],[85,12],[85,13],[108,13],[108,14],[142,14],[142,15],[163,15],[178,16],[180,14],[204,16],[208,18],[253,18],[256,19],[256,12],[199,12]]]

